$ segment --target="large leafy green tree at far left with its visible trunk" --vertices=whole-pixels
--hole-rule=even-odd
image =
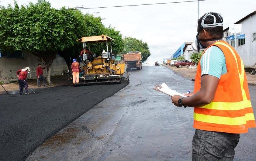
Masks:
[[[74,46],[78,35],[85,32],[80,11],[56,11],[46,0],[27,6],[1,6],[0,47],[4,50],[29,51],[39,57],[47,69],[51,84],[51,65],[59,51]],[[7,27],[9,26],[9,27]]]

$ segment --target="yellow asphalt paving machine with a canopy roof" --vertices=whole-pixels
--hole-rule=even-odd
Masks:
[[[112,41],[115,41],[114,39],[107,35],[100,35],[82,37],[77,41],[83,43],[83,50],[79,53],[82,71],[80,72],[79,83],[72,84],[70,82],[72,85],[129,82],[129,74],[126,71],[127,65],[115,64],[115,56],[112,53]],[[101,53],[93,53],[90,51],[91,43],[104,43],[105,45],[101,45],[104,49]]]

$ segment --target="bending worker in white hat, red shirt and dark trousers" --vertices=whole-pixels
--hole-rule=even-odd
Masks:
[[[30,72],[30,68],[26,67],[24,69],[20,69],[17,71],[17,77],[19,78],[19,95],[22,95],[23,88],[25,87],[25,95],[28,94],[28,83],[26,82],[26,78],[28,73]]]

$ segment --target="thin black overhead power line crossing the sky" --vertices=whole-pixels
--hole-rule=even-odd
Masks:
[[[147,5],[156,5],[156,4],[173,4],[173,3],[187,3],[187,2],[198,2],[199,1],[210,1],[210,0],[193,0],[193,1],[180,1],[180,2],[166,2],[166,3],[154,3],[154,4],[134,4],[134,5],[125,5],[125,6],[107,6],[107,7],[91,7],[91,8],[79,8],[79,9],[97,9],[97,8],[114,8],[114,7],[130,7],[130,6],[147,6]],[[64,10],[76,10],[76,9],[60,9],[56,11]]]

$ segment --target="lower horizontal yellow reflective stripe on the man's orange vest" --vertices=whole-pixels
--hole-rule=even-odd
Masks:
[[[249,115],[248,115],[249,117]],[[194,119],[196,121],[213,123],[213,124],[223,124],[223,125],[243,125],[246,124],[247,120],[245,116],[242,117],[222,117],[222,116],[211,116],[205,114],[197,114],[194,112]]]

